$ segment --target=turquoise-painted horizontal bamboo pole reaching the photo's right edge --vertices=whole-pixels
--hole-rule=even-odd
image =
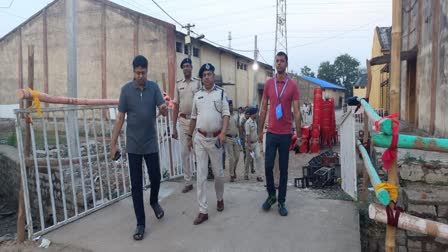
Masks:
[[[392,136],[378,133],[373,135],[373,144],[375,146],[388,148],[391,142]],[[398,148],[448,152],[448,139],[400,134],[398,137]]]

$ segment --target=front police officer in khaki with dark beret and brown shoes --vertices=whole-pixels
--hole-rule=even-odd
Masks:
[[[199,214],[194,225],[208,220],[207,205],[207,162],[210,158],[215,175],[217,210],[224,210],[224,169],[222,165],[223,145],[229,125],[229,104],[223,89],[215,85],[215,68],[204,64],[199,70],[203,87],[194,95],[189,131],[189,146],[193,147],[197,159],[197,195]],[[194,139],[191,137],[196,130]]]

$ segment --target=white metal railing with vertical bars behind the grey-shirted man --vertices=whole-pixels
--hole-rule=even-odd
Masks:
[[[131,192],[126,155],[118,161],[109,159],[115,105],[41,110],[43,116],[34,116],[32,123],[27,118],[33,110],[15,110],[30,239],[126,198]],[[183,174],[179,142],[171,137],[171,114],[157,117],[162,180]],[[73,115],[75,118],[70,118]],[[122,151],[125,135],[126,122],[117,142]],[[143,167],[144,186],[148,187],[145,162]]]

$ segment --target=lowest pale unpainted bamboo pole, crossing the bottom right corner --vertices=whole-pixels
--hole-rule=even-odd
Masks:
[[[370,204],[369,218],[381,223],[387,223],[386,207],[375,203]],[[398,219],[398,227],[448,240],[447,224],[415,217],[407,213],[400,214],[400,218]]]

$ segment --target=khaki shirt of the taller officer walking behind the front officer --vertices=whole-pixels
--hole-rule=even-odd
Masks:
[[[193,77],[190,81],[180,79],[174,88],[173,102],[179,105],[179,113],[191,115],[193,96],[201,88],[201,81]]]

